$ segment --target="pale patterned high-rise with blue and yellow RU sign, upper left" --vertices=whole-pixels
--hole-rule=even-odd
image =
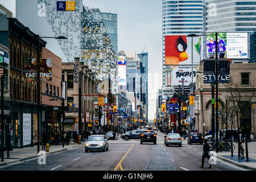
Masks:
[[[72,10],[59,10],[56,0],[16,0],[16,18],[40,36],[65,36],[68,39],[46,39],[47,49],[63,62],[81,57],[82,0],[68,4]]]

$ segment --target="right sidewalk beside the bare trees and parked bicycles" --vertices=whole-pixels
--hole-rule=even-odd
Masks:
[[[246,162],[246,151],[244,152],[244,158],[238,159],[238,143],[234,143],[235,150],[233,152],[233,157],[231,156],[231,152],[218,152],[217,158],[224,160],[225,162],[232,163],[238,167],[256,170],[256,142],[248,143],[248,156],[249,162]],[[245,143],[242,143],[243,149],[245,150]]]

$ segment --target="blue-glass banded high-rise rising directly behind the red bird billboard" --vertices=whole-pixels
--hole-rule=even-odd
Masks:
[[[172,85],[172,66],[165,65],[165,36],[201,34],[203,1],[162,1],[163,87]]]

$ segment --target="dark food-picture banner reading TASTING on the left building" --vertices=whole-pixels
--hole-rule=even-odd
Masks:
[[[37,60],[26,59],[25,60],[25,72],[27,81],[36,81],[37,79]],[[40,80],[51,81],[52,80],[52,59],[40,59]]]

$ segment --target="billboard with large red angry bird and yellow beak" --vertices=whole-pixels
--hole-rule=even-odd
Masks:
[[[193,45],[192,45],[193,39]],[[187,38],[186,35],[165,36],[165,64],[189,65],[200,63],[200,38]]]

